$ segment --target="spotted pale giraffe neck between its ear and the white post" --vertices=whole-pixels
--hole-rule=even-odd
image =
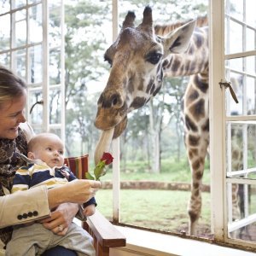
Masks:
[[[163,61],[166,77],[206,74],[209,65],[208,28],[195,29],[189,49],[183,54],[171,54]]]

